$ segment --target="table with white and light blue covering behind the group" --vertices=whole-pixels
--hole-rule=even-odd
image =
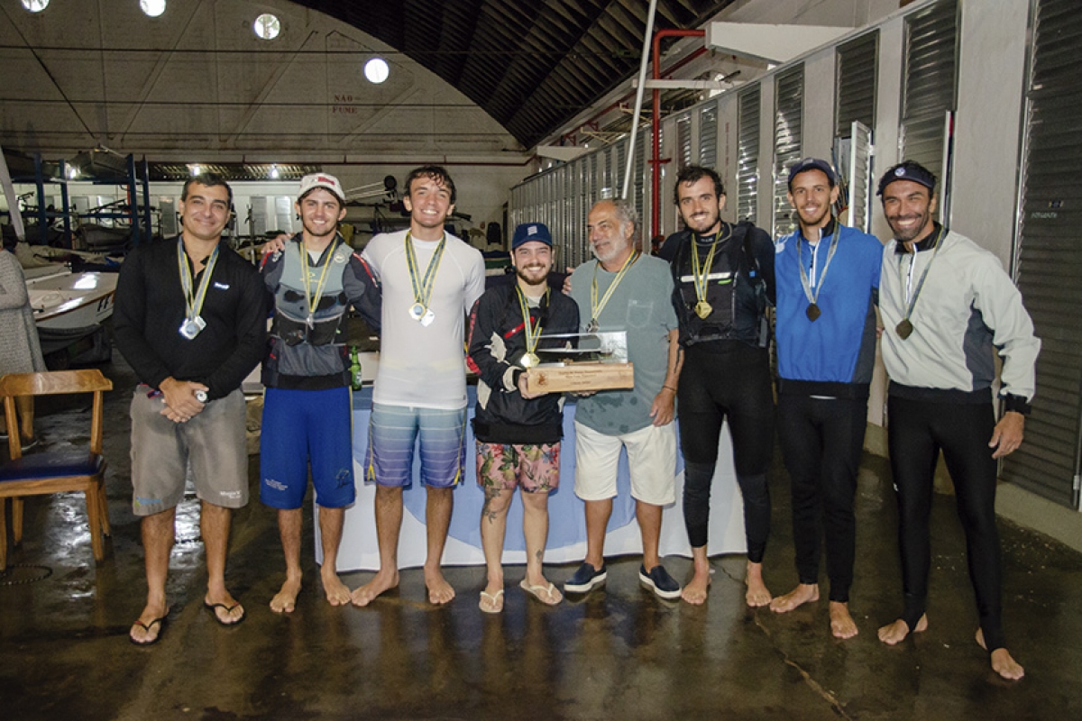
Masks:
[[[476,392],[470,386],[467,418],[473,417]],[[345,513],[345,528],[339,551],[340,572],[374,571],[380,565],[375,538],[375,485],[365,481],[365,454],[368,450],[368,418],[371,414],[371,388],[354,392],[353,401],[353,457],[357,485],[357,500]],[[677,457],[679,454],[677,453]],[[564,440],[560,449],[560,484],[549,498],[549,544],[546,563],[581,561],[586,552],[585,510],[575,495],[575,403],[564,410]],[[642,552],[638,523],[635,521],[635,502],[631,497],[631,480],[626,455],[620,459],[619,493],[613,499],[612,517],[605,538],[607,557]],[[676,502],[667,506],[662,516],[662,556],[690,557],[691,548],[684,530],[682,507],[684,469],[681,460],[676,469]],[[477,485],[475,446],[470,424],[466,424],[465,473],[453,491],[454,511],[448,532],[445,565],[484,564],[480,546],[480,510],[485,494]],[[504,543],[504,563],[526,563],[526,545],[523,539],[523,506],[515,493],[514,504],[507,513],[507,535]],[[414,457],[413,482],[403,492],[401,535],[399,536],[398,565],[403,569],[419,568],[425,560],[424,507],[426,492],[420,482],[420,463]],[[717,470],[711,493],[710,543],[708,553],[739,553],[745,550],[743,516],[736,471],[733,468],[733,450],[729,435],[722,432]],[[318,513],[318,507],[316,509]],[[322,562],[318,543],[319,524],[316,523],[316,560]]]

